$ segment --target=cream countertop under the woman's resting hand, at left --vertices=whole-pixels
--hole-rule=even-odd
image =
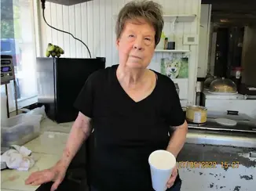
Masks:
[[[49,119],[41,123],[41,135],[27,142],[26,146],[35,157],[35,165],[29,171],[1,171],[1,190],[35,191],[39,186],[25,185],[25,179],[34,171],[52,167],[60,160],[72,123],[56,124]]]

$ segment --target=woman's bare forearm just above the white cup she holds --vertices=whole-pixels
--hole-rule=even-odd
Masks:
[[[170,141],[166,150],[174,154],[174,157],[177,157],[178,153],[180,153],[182,147],[184,146],[187,132],[188,124],[185,121],[184,124],[175,127],[173,135],[170,136]]]

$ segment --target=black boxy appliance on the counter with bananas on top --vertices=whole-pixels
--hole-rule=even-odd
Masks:
[[[105,68],[105,58],[36,58],[38,103],[57,123],[75,121],[79,111],[73,104],[86,79]]]

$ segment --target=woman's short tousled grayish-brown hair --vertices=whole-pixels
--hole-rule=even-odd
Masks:
[[[116,38],[120,38],[126,20],[143,18],[155,29],[155,46],[158,45],[163,31],[162,5],[153,1],[133,1],[124,5],[120,10],[115,25]]]

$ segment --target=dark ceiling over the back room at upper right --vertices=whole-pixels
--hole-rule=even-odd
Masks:
[[[256,0],[202,0],[211,4],[211,20],[220,25],[256,24]]]

